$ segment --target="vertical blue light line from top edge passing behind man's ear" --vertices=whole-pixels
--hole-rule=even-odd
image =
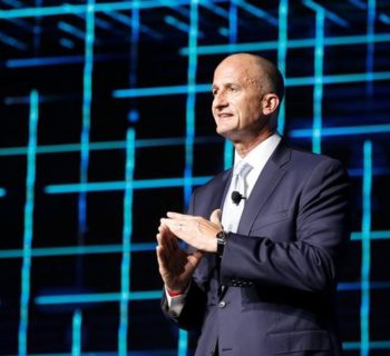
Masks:
[[[285,59],[287,56],[287,19],[289,0],[281,0],[279,3],[279,47],[277,47],[277,68],[285,78]],[[282,102],[279,110],[277,131],[283,135],[285,126],[285,101]]]

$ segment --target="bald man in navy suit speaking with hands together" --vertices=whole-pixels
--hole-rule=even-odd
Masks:
[[[348,179],[339,161],[276,134],[283,91],[264,58],[220,63],[213,116],[234,144],[234,168],[194,191],[188,215],[162,219],[163,310],[201,330],[199,356],[341,355],[333,297],[349,238]]]

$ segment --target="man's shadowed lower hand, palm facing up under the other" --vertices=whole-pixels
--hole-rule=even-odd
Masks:
[[[165,286],[168,291],[181,294],[187,288],[203,254],[198,250],[193,254],[183,250],[166,225],[158,227],[157,243],[158,268]]]

